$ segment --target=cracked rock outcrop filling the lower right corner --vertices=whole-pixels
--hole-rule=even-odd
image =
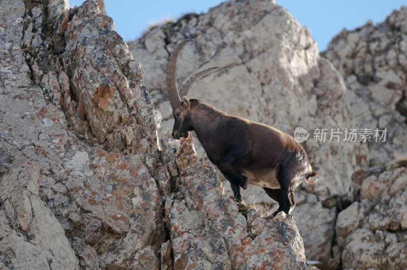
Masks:
[[[407,162],[358,171],[336,236],[344,269],[407,267]]]

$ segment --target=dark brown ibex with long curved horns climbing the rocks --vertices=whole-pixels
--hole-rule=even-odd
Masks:
[[[167,68],[167,91],[175,119],[172,137],[179,140],[191,131],[205,149],[209,160],[230,182],[236,201],[240,188],[248,183],[262,187],[289,214],[294,206],[294,188],[316,175],[303,147],[286,133],[238,116],[228,115],[197,99],[188,99],[193,85],[218,67],[201,71],[190,78],[178,92],[177,59],[184,40],[172,53]],[[182,99],[180,98],[182,97]]]

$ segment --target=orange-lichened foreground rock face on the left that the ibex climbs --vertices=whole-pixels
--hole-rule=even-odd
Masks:
[[[243,216],[191,138],[158,137],[98,5],[2,1],[0,18],[0,268],[308,269],[292,217]]]

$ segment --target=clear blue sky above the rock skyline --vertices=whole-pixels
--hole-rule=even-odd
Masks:
[[[70,0],[71,6],[81,5],[82,0]],[[220,0],[105,0],[107,15],[113,18],[115,30],[125,41],[132,41],[146,31],[149,24],[173,18],[185,13],[206,13]],[[276,0],[302,25],[308,27],[319,50],[345,27],[354,29],[371,19],[382,22],[394,10],[407,2],[401,0]]]

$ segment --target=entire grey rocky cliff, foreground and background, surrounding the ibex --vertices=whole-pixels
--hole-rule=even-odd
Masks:
[[[93,1],[0,7],[0,269],[407,267],[405,8],[322,57],[273,1],[230,0],[128,46]],[[197,141],[169,138],[165,69],[185,38],[180,83],[221,67],[191,97],[310,132],[325,178],[297,188],[293,217],[237,205]],[[313,140],[354,127],[386,141]]]

